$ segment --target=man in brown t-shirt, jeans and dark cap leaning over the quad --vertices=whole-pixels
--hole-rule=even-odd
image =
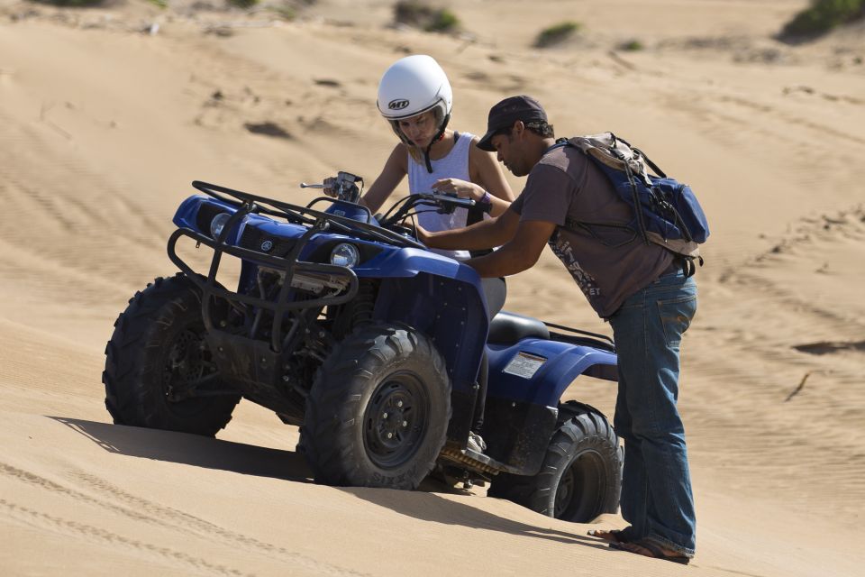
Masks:
[[[478,147],[495,151],[514,176],[528,176],[522,194],[496,218],[439,233],[419,229],[420,239],[449,250],[500,246],[466,261],[483,278],[530,269],[549,243],[615,335],[614,423],[625,446],[620,502],[631,526],[594,535],[631,553],[687,563],[696,518],[676,404],[681,335],[697,311],[694,279],[671,252],[627,228],[632,207],[582,151],[555,141],[533,98],[493,106]],[[573,222],[605,225],[565,226]]]

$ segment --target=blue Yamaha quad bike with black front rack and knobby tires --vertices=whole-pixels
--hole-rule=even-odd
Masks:
[[[308,206],[193,186],[205,194],[179,206],[168,239],[180,272],[136,293],[106,347],[114,423],[213,436],[246,398],[300,427],[316,482],[413,490],[432,473],[550,517],[617,510],[613,427],[561,402],[584,375],[617,379],[614,343],[512,313],[490,322],[475,270],[416,240],[414,215],[474,201],[413,195],[374,216],[346,172],[337,197]],[[181,242],[209,247],[209,270]],[[240,260],[233,290],[217,281],[223,258]]]

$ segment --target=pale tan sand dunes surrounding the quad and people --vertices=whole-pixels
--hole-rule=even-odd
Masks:
[[[780,44],[793,0],[471,0],[451,5],[457,36],[387,26],[374,0],[293,22],[169,4],[0,2],[0,572],[861,574],[861,26]],[[578,39],[532,48],[565,19]],[[617,50],[631,40],[645,49]],[[626,135],[698,191],[713,229],[684,343],[687,568],[482,489],[317,486],[296,428],[247,402],[215,440],[111,424],[105,341],[135,290],[173,274],[189,182],[305,204],[301,181],[371,181],[394,142],[376,83],[416,52],[448,71],[462,131],[532,94],[559,134]],[[509,288],[509,310],[609,332],[551,254]],[[608,385],[568,395],[613,413]]]

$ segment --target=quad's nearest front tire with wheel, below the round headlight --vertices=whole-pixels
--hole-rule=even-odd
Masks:
[[[412,490],[450,420],[451,380],[432,341],[406,325],[362,325],[316,374],[304,453],[316,482]]]

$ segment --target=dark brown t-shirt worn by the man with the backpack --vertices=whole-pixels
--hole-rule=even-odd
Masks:
[[[601,169],[572,146],[544,154],[511,210],[521,221],[559,224],[550,237],[550,248],[602,318],[612,316],[673,260],[670,252],[646,244],[638,233],[624,228],[563,226],[566,219],[624,225],[633,218],[631,206],[618,197]]]

